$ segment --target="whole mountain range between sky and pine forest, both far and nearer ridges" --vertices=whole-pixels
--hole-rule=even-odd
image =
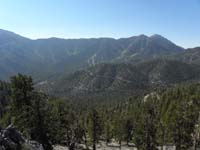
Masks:
[[[1,80],[20,72],[55,93],[133,92],[200,79],[200,48],[157,34],[32,40],[0,30],[0,56]]]

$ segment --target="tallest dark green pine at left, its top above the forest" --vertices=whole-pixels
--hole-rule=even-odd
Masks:
[[[12,118],[14,124],[26,135],[31,125],[33,90],[31,77],[22,74],[11,77]]]

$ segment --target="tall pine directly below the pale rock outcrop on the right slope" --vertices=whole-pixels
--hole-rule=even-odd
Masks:
[[[156,96],[150,96],[142,102],[140,118],[136,123],[134,141],[140,149],[157,149],[157,122],[158,122],[158,100]]]

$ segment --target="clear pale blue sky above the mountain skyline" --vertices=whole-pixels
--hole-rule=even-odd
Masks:
[[[200,46],[200,0],[0,0],[0,28],[29,38],[161,34]]]

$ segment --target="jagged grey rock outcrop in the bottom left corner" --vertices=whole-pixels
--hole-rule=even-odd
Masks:
[[[13,125],[0,129],[0,150],[23,149],[44,150],[38,142],[26,140]]]

